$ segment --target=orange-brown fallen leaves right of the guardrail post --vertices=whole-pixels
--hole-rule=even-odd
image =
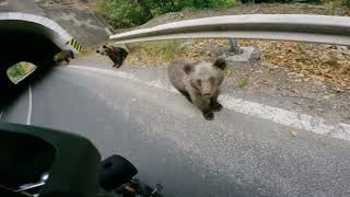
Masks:
[[[295,42],[242,40],[242,46],[256,46],[267,66],[277,66],[294,82],[329,83],[337,92],[350,86],[350,50]]]

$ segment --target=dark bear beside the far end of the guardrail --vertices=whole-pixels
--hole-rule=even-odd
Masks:
[[[113,68],[119,68],[121,67],[124,60],[128,56],[128,51],[121,47],[115,47],[115,46],[103,46],[102,50],[96,50],[96,53],[101,55],[107,55],[109,59],[114,62]]]

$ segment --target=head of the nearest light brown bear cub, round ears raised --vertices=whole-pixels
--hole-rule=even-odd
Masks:
[[[189,78],[190,85],[202,96],[212,97],[220,88],[226,68],[226,60],[218,58],[213,63],[188,62],[184,67]]]

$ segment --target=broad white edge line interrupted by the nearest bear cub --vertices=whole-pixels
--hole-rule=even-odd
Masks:
[[[129,79],[139,83],[147,84],[149,86],[160,88],[163,90],[177,93],[177,91],[174,88],[164,84],[160,80],[144,81],[137,78],[137,76],[132,73],[127,73],[127,72],[117,71],[117,70],[83,67],[83,66],[70,66],[69,68],[79,69],[79,70],[89,70],[89,71],[94,71],[94,72],[114,76],[118,78]],[[241,99],[235,99],[228,94],[220,95],[219,101],[222,103],[222,105],[225,108],[229,108],[242,114],[253,115],[261,119],[271,120],[277,124],[294,127],[302,130],[312,131],[315,134],[329,135],[338,139],[350,141],[350,125],[348,124],[332,123],[323,118],[300,114],[300,113],[287,111],[283,108],[268,106],[265,104],[245,101]]]

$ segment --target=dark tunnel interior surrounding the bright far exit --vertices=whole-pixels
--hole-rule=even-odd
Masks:
[[[27,89],[28,83],[39,80],[50,70],[52,57],[61,51],[66,39],[45,25],[21,20],[0,20],[0,39],[1,111]],[[8,69],[23,61],[37,68],[15,84],[10,80]]]

